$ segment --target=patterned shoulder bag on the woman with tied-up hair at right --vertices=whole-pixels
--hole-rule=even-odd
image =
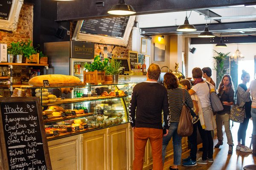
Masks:
[[[236,90],[237,94],[237,90]],[[235,101],[236,101],[236,96],[235,96]],[[230,120],[233,122],[238,122],[242,123],[244,122],[244,116],[245,116],[245,108],[244,107],[239,107],[239,105],[234,104],[231,106],[231,111],[230,111]]]

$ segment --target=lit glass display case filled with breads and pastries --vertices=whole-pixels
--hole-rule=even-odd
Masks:
[[[40,97],[48,141],[128,122],[129,88],[125,83],[22,90],[26,95]],[[59,97],[71,91],[70,98]]]

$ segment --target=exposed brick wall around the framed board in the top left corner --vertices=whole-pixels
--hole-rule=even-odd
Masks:
[[[33,40],[33,5],[24,3],[19,16],[17,30],[0,31],[0,43],[9,45],[11,42]]]

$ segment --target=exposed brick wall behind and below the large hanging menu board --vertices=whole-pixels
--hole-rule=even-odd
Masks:
[[[74,34],[75,28],[76,28],[76,22],[70,22],[70,41],[72,40],[72,36]],[[112,54],[114,56],[116,55],[121,56],[120,54],[124,52],[122,56],[128,57],[128,51],[131,50],[131,45],[132,45],[132,32],[130,34],[127,47],[116,45],[116,47],[113,49],[114,45],[95,43],[94,54],[99,55],[100,52],[103,54],[104,47],[107,47],[108,52],[111,52],[113,49]]]

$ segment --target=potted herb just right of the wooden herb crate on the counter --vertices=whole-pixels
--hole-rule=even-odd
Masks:
[[[106,75],[106,82],[113,84],[118,83],[118,75],[120,74],[121,70],[119,68],[121,67],[121,61],[118,61],[117,59],[111,59],[109,61],[108,66],[106,67],[105,75]]]

